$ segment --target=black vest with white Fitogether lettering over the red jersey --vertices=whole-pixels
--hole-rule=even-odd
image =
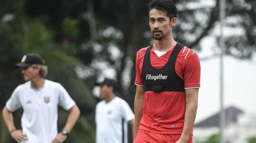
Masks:
[[[174,47],[167,63],[161,68],[154,68],[151,65],[150,51],[152,49],[152,45],[147,48],[142,67],[142,79],[146,86],[145,91],[185,92],[184,81],[180,79],[175,72],[176,58],[182,47],[184,47],[184,45],[178,43]]]

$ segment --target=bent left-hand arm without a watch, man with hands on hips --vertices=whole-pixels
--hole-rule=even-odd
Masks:
[[[14,125],[14,121],[13,121],[13,116],[12,116],[12,112],[10,112],[6,106],[4,106],[3,111],[3,118],[4,118],[4,122],[12,136],[12,138],[14,138],[16,140],[16,142],[20,142],[23,141],[25,142],[27,140],[27,136],[25,134],[22,134],[21,130],[17,130],[15,125]]]

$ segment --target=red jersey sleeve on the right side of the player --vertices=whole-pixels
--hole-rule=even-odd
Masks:
[[[200,61],[197,54],[191,50],[184,61],[184,87],[200,88]]]

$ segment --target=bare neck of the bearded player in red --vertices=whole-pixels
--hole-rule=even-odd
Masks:
[[[173,39],[172,36],[166,36],[161,40],[155,40],[154,49],[161,52],[166,52],[169,49],[172,49],[177,42]]]

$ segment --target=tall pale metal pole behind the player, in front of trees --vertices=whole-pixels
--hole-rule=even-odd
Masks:
[[[223,107],[223,55],[225,53],[225,39],[223,36],[223,27],[225,25],[225,9],[226,9],[226,0],[219,0],[219,19],[221,21],[220,27],[220,47],[221,47],[221,55],[220,55],[220,95],[221,95],[221,114],[220,114],[220,143],[225,143],[225,109]]]

